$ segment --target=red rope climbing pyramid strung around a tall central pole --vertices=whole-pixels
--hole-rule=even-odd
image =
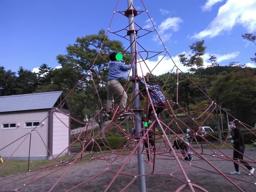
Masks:
[[[0,177],[0,191],[245,192],[256,190],[256,177],[250,172],[256,165],[255,158],[231,147],[228,144],[228,136],[225,141],[221,141],[202,128],[203,124],[221,107],[174,63],[142,0],[141,2],[144,7],[142,11],[136,10],[132,0],[128,0],[128,9],[117,11],[118,0],[101,49],[98,50],[90,70],[66,96],[67,98],[77,89],[83,80],[91,81],[99,101],[98,113],[88,123],[84,123],[57,107],[49,116],[53,115],[63,124],[65,123],[60,118],[60,114],[68,116],[83,128],[79,132],[73,132],[65,124],[65,128],[72,132],[69,146],[57,157],[50,154],[52,160],[46,161],[41,167],[32,167],[29,160],[27,171]],[[112,20],[117,14],[127,19],[127,26],[124,29],[111,31]],[[143,29],[139,23],[136,23],[136,18],[142,15],[150,20],[153,30]],[[129,46],[120,53],[106,52],[102,47],[106,43],[108,34],[124,39],[129,42]],[[163,46],[162,50],[150,51],[140,44],[140,38],[151,37],[152,34],[159,38]],[[147,63],[156,57],[161,57],[159,62],[152,68],[148,67]],[[110,58],[111,62],[106,58]],[[165,82],[160,84],[154,76],[154,70],[166,58],[172,61],[169,64],[172,69],[166,73]],[[97,62],[109,63],[107,82],[101,78],[95,68]],[[123,62],[127,65],[120,64]],[[119,71],[120,78],[123,77],[126,82],[113,78],[117,75],[116,70],[120,68],[123,69]],[[189,86],[200,91],[208,102],[187,112],[179,104],[183,91],[183,87],[179,84],[181,76],[183,80],[187,80]],[[100,81],[102,86],[96,86],[96,80]],[[171,83],[167,84],[167,82]],[[101,93],[102,89],[105,92],[107,90],[107,95]],[[103,102],[102,97],[107,97],[106,103]],[[178,113],[182,114],[182,117],[178,116]],[[232,126],[236,124],[251,132],[254,129],[231,114],[229,116],[233,118]],[[94,129],[95,124],[98,124],[98,131]],[[231,133],[230,129],[228,135]],[[39,136],[50,153],[35,127],[26,135],[0,148],[1,154],[1,151],[6,150],[8,146],[12,144],[17,146],[10,157],[0,165],[0,172],[8,166],[9,161],[12,161],[12,155],[23,147],[23,143],[35,136]],[[220,147],[216,147],[208,138],[218,141]],[[117,139],[119,139],[118,144],[113,146],[111,142]],[[79,150],[70,155],[66,154],[74,144],[78,145]],[[230,150],[223,147],[229,147]],[[237,153],[240,157],[243,155],[244,159],[248,160],[233,159],[233,153]],[[230,175],[226,167],[230,166],[232,169],[236,162],[246,175],[241,174],[241,177]],[[243,165],[251,166],[252,169],[249,170]]]

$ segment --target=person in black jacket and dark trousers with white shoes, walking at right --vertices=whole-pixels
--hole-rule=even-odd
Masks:
[[[240,159],[240,162],[243,163],[247,167],[247,169],[250,171],[250,173],[248,175],[251,176],[255,169],[253,167],[251,167],[247,162],[243,161],[244,160],[243,154],[245,151],[244,135],[243,135],[241,129],[238,128],[237,123],[235,124],[232,121],[229,121],[229,126],[231,128],[231,136],[232,136],[231,142],[233,142],[233,147],[234,147],[233,160],[235,161],[234,162],[235,171],[231,172],[230,174],[233,174],[233,175],[240,174],[239,165],[237,163],[238,159]]]

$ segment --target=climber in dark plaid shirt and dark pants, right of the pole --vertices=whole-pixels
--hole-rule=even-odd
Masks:
[[[155,105],[155,110],[157,113],[157,116],[163,111],[163,109],[165,108],[165,104],[163,102],[166,101],[165,95],[162,93],[161,88],[157,85],[157,84],[152,84],[149,82],[149,74],[147,74],[146,76],[144,76],[145,80],[146,80],[146,84],[144,83],[143,79],[140,79],[140,76],[138,74],[136,74],[136,77],[138,78],[138,80],[140,81],[140,83],[144,86],[144,87],[148,87],[150,89],[148,89],[149,91],[149,95],[152,99],[153,105]],[[148,125],[152,124],[151,120],[151,112],[153,111],[152,106],[150,106],[148,108]],[[158,122],[156,121],[155,123],[155,128],[157,129],[158,127]]]

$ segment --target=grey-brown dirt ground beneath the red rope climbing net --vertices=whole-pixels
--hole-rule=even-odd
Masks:
[[[233,151],[232,150],[222,150],[224,153],[232,157]],[[210,150],[204,150],[204,153],[206,154],[212,154]],[[245,151],[245,154],[248,155],[250,158],[252,158],[254,161],[256,161],[256,151],[255,149],[248,149]],[[153,155],[151,155],[153,157]],[[175,170],[179,170],[178,164],[176,160],[162,160],[161,155],[157,155],[158,159],[155,161],[155,171],[154,173],[172,173]],[[207,159],[210,159],[211,163],[215,165],[223,174],[226,174],[227,176],[230,176],[230,172],[234,171],[234,165],[232,162],[229,161],[216,161],[218,158],[204,155]],[[168,158],[168,157],[165,157]],[[144,159],[146,159],[146,155],[144,155]],[[173,158],[172,158],[173,159]],[[120,161],[124,162],[126,158],[120,159]],[[214,161],[215,160],[215,161]],[[138,174],[138,164],[137,158],[134,155],[131,158],[131,162],[134,162],[133,164],[126,165],[122,171],[122,173],[129,173],[132,175]],[[187,167],[188,163],[182,162],[181,163],[183,167]],[[72,187],[80,184],[83,181],[88,180],[89,178],[95,176],[97,173],[100,173],[108,167],[109,163],[103,160],[92,160],[87,162],[78,162],[71,166],[71,169],[68,170],[68,172],[65,174],[65,176],[56,184],[56,186],[53,188],[53,192],[63,192],[67,191],[68,189],[71,189]],[[123,164],[121,162],[112,162],[111,166],[109,167],[109,171],[118,171],[120,167]],[[191,183],[199,185],[200,187],[203,187],[208,192],[238,192],[239,190],[235,188],[229,181],[227,181],[223,176],[211,173],[203,169],[199,169],[198,166],[202,168],[206,168],[212,171],[215,171],[210,165],[208,165],[204,161],[200,161],[198,157],[193,156],[193,161],[191,162],[190,167],[185,169],[185,172],[187,173],[188,178],[191,180]],[[68,165],[69,166],[69,165]],[[34,174],[36,172],[29,172],[25,173],[19,176],[15,176],[12,178],[9,178],[7,180],[2,180],[3,178],[0,178],[0,186],[3,184],[7,184],[0,187],[0,191],[2,190],[11,190],[15,191],[15,189],[18,189],[19,187],[22,187],[19,189],[19,192],[47,192],[49,191],[53,185],[56,183],[56,181],[60,178],[60,176],[67,170],[68,166],[58,166],[54,167],[49,171],[45,171],[43,173],[40,173],[37,177],[34,178],[37,179],[39,177],[45,176],[44,178],[39,179],[38,181],[32,182],[31,184],[26,185],[25,187],[23,184],[30,181],[33,176],[27,177],[25,179],[7,184],[8,182],[12,182],[16,179],[22,178],[24,176],[29,176],[31,174]],[[252,166],[256,166],[255,164]],[[60,169],[57,172],[54,172],[56,170]],[[105,171],[104,173],[100,174],[97,177],[92,178],[91,180],[83,183],[79,187],[72,189],[72,192],[101,192],[106,189],[108,184],[112,181],[112,179],[115,176],[115,173]],[[54,172],[54,173],[53,173]],[[145,172],[151,173],[150,165],[145,163]],[[246,175],[246,171],[242,168],[240,168],[240,175],[234,176],[235,178],[240,178],[242,180],[246,180],[248,182],[256,182],[256,178],[254,176],[248,176]],[[52,174],[50,174],[52,173]],[[255,172],[256,173],[256,172]],[[182,181],[185,181],[184,176],[181,172],[173,173],[174,177],[179,178]],[[111,187],[109,188],[108,192],[116,192],[121,191],[129,182],[133,180],[134,176],[124,176],[120,175],[116,178],[116,180],[113,182]],[[239,181],[234,178],[230,178],[233,182],[235,182],[243,191],[245,192],[255,192],[256,191],[256,185],[247,183],[244,181]],[[2,181],[1,181],[2,180]],[[181,185],[183,185],[181,181],[176,180],[173,177],[170,177],[169,175],[158,175],[158,174],[149,174],[146,176],[146,188],[147,192],[174,192],[176,191]],[[132,182],[131,185],[125,190],[127,192],[133,192],[133,191],[139,191],[139,178],[137,177],[135,181]],[[188,187],[183,189],[182,192],[189,192],[191,191]],[[195,189],[195,191],[200,191],[198,189]]]

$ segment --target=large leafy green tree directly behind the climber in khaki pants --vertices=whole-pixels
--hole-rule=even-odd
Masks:
[[[57,56],[57,61],[61,68],[54,69],[51,72],[53,84],[60,89],[64,89],[63,91],[66,93],[79,83],[74,90],[74,94],[71,94],[72,99],[68,100],[68,102],[72,103],[72,105],[69,105],[72,116],[80,121],[83,121],[85,117],[85,112],[81,110],[82,108],[89,109],[94,115],[98,112],[98,109],[101,109],[100,102],[106,105],[107,91],[104,82],[107,82],[109,58],[108,55],[103,53],[120,53],[125,50],[122,42],[110,40],[109,37],[105,38],[101,48],[104,38],[104,30],[99,30],[98,34],[78,37],[73,45],[67,46],[67,54]],[[99,50],[103,53],[95,60]],[[98,77],[94,70],[90,69],[94,60],[93,68],[101,78]],[[124,55],[124,60],[130,60],[130,56]],[[83,80],[80,81],[82,78]],[[103,120],[100,121],[100,126],[101,128],[103,127]]]

